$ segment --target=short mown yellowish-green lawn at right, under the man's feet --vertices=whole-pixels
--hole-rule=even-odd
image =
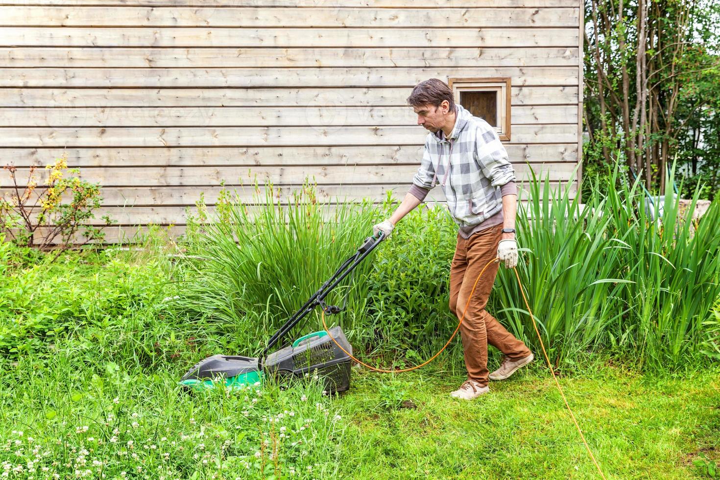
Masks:
[[[448,396],[460,377],[397,376],[417,408],[392,412],[377,408],[385,381],[356,376],[356,389],[340,401],[354,412],[343,447],[346,476],[597,476],[546,370],[494,382],[490,394],[469,403]],[[608,478],[685,479],[699,473],[692,466],[698,450],[720,454],[718,372],[658,380],[602,368],[561,384]]]

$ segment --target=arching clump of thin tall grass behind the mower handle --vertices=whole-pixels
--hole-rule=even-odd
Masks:
[[[370,201],[319,201],[310,184],[286,203],[267,186],[256,189],[250,203],[237,192],[228,196],[213,219],[192,225],[188,257],[179,265],[188,281],[177,305],[232,332],[228,346],[247,352],[263,348],[271,332],[372,235],[378,209]],[[342,306],[347,299],[346,312],[336,318],[351,334],[364,319],[364,279],[371,270],[372,256],[356,268],[355,281],[343,281],[325,300]],[[317,314],[306,322],[310,331],[321,328]],[[301,331],[302,325],[294,330]]]

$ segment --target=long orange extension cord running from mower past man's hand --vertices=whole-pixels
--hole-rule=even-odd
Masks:
[[[482,270],[480,271],[480,274],[477,276],[477,279],[475,279],[475,283],[474,283],[473,286],[472,286],[472,290],[470,291],[470,294],[469,294],[469,296],[468,296],[468,298],[467,298],[467,302],[465,303],[465,309],[464,309],[464,311],[462,312],[462,316],[460,317],[460,321],[458,322],[457,327],[455,327],[455,331],[452,332],[452,335],[450,335],[450,338],[448,339],[448,341],[445,343],[445,345],[443,345],[443,348],[441,348],[440,350],[438,350],[438,353],[436,353],[435,355],[431,356],[431,358],[429,358],[428,360],[424,361],[423,363],[420,363],[420,365],[416,365],[416,366],[413,366],[413,367],[410,367],[410,368],[397,368],[397,369],[395,369],[395,370],[384,370],[384,369],[382,369],[382,368],[375,368],[374,366],[370,366],[370,365],[368,365],[367,363],[365,363],[365,362],[363,362],[363,361],[360,361],[360,360],[358,360],[357,358],[355,358],[354,356],[352,356],[352,354],[351,354],[350,352],[348,352],[347,350],[345,350],[345,349],[343,348],[343,346],[340,345],[340,343],[338,343],[337,340],[335,340],[335,338],[333,338],[333,335],[330,334],[330,329],[328,328],[328,325],[325,323],[325,310],[322,310],[322,313],[321,313],[321,316],[322,316],[322,319],[323,319],[323,328],[325,328],[325,333],[328,334],[328,336],[330,337],[330,340],[333,340],[333,342],[334,342],[336,345],[338,345],[338,347],[340,347],[340,349],[343,350],[343,352],[345,352],[350,358],[352,358],[352,359],[353,359],[354,361],[356,361],[357,363],[360,363],[361,365],[366,366],[367,368],[369,368],[369,369],[371,369],[371,370],[378,371],[378,372],[381,372],[381,373],[399,373],[399,372],[403,372],[403,371],[415,370],[416,368],[420,368],[420,367],[426,366],[428,363],[430,363],[431,361],[435,360],[435,358],[436,358],[438,355],[440,355],[440,354],[443,352],[443,350],[445,350],[445,348],[446,348],[448,345],[450,345],[450,342],[452,341],[452,339],[455,338],[455,335],[457,334],[457,331],[460,329],[460,325],[462,325],[462,321],[463,321],[464,318],[465,318],[465,312],[467,312],[467,307],[468,307],[468,305],[470,304],[470,299],[472,299],[472,294],[475,293],[475,287],[477,287],[477,282],[480,281],[480,277],[482,277],[482,274],[485,273],[485,270],[487,270],[487,267],[489,267],[492,263],[499,262],[499,261],[500,261],[500,258],[493,258],[491,261],[487,262],[484,267],[482,267]],[[538,336],[538,340],[540,340],[540,346],[541,346],[541,348],[542,348],[542,353],[543,353],[543,355],[545,356],[545,361],[547,362],[548,368],[550,368],[550,373],[552,373],[552,379],[555,381],[555,386],[557,386],[557,390],[560,392],[560,397],[562,397],[562,401],[565,402],[565,407],[567,407],[567,411],[570,412],[570,417],[572,418],[572,422],[575,423],[575,428],[577,428],[577,433],[579,433],[579,434],[580,434],[580,438],[582,438],[582,443],[585,443],[585,448],[588,450],[588,454],[590,455],[590,458],[593,460],[593,463],[595,463],[595,468],[598,469],[598,474],[600,474],[600,477],[601,477],[603,480],[606,480],[605,474],[603,474],[603,471],[602,471],[602,469],[600,468],[600,465],[598,465],[598,461],[595,460],[595,456],[593,455],[593,450],[590,450],[590,445],[588,445],[587,440],[585,440],[585,435],[582,434],[582,429],[580,428],[580,424],[578,424],[578,423],[577,423],[577,420],[575,419],[575,414],[572,413],[572,409],[570,408],[570,404],[567,403],[567,399],[565,398],[565,394],[564,394],[564,392],[562,391],[562,387],[560,386],[559,381],[557,381],[557,376],[555,375],[555,369],[552,368],[552,363],[550,362],[550,358],[549,358],[549,356],[547,355],[547,352],[546,352],[546,350],[545,350],[545,345],[544,345],[544,343],[543,343],[543,341],[542,341],[542,338],[541,338],[541,336],[540,336],[540,330],[538,330],[537,323],[535,322],[535,316],[534,316],[532,310],[530,309],[530,304],[528,303],[528,299],[527,299],[527,297],[525,296],[525,289],[523,289],[523,284],[522,284],[522,282],[520,281],[520,275],[518,274],[518,269],[515,268],[515,267],[513,267],[513,270],[515,271],[515,276],[516,276],[516,278],[518,279],[518,286],[520,287],[520,293],[523,295],[523,301],[525,302],[525,306],[528,307],[528,313],[530,314],[530,319],[531,319],[532,322],[533,322],[533,327],[535,328],[535,333],[536,333],[537,336]]]

